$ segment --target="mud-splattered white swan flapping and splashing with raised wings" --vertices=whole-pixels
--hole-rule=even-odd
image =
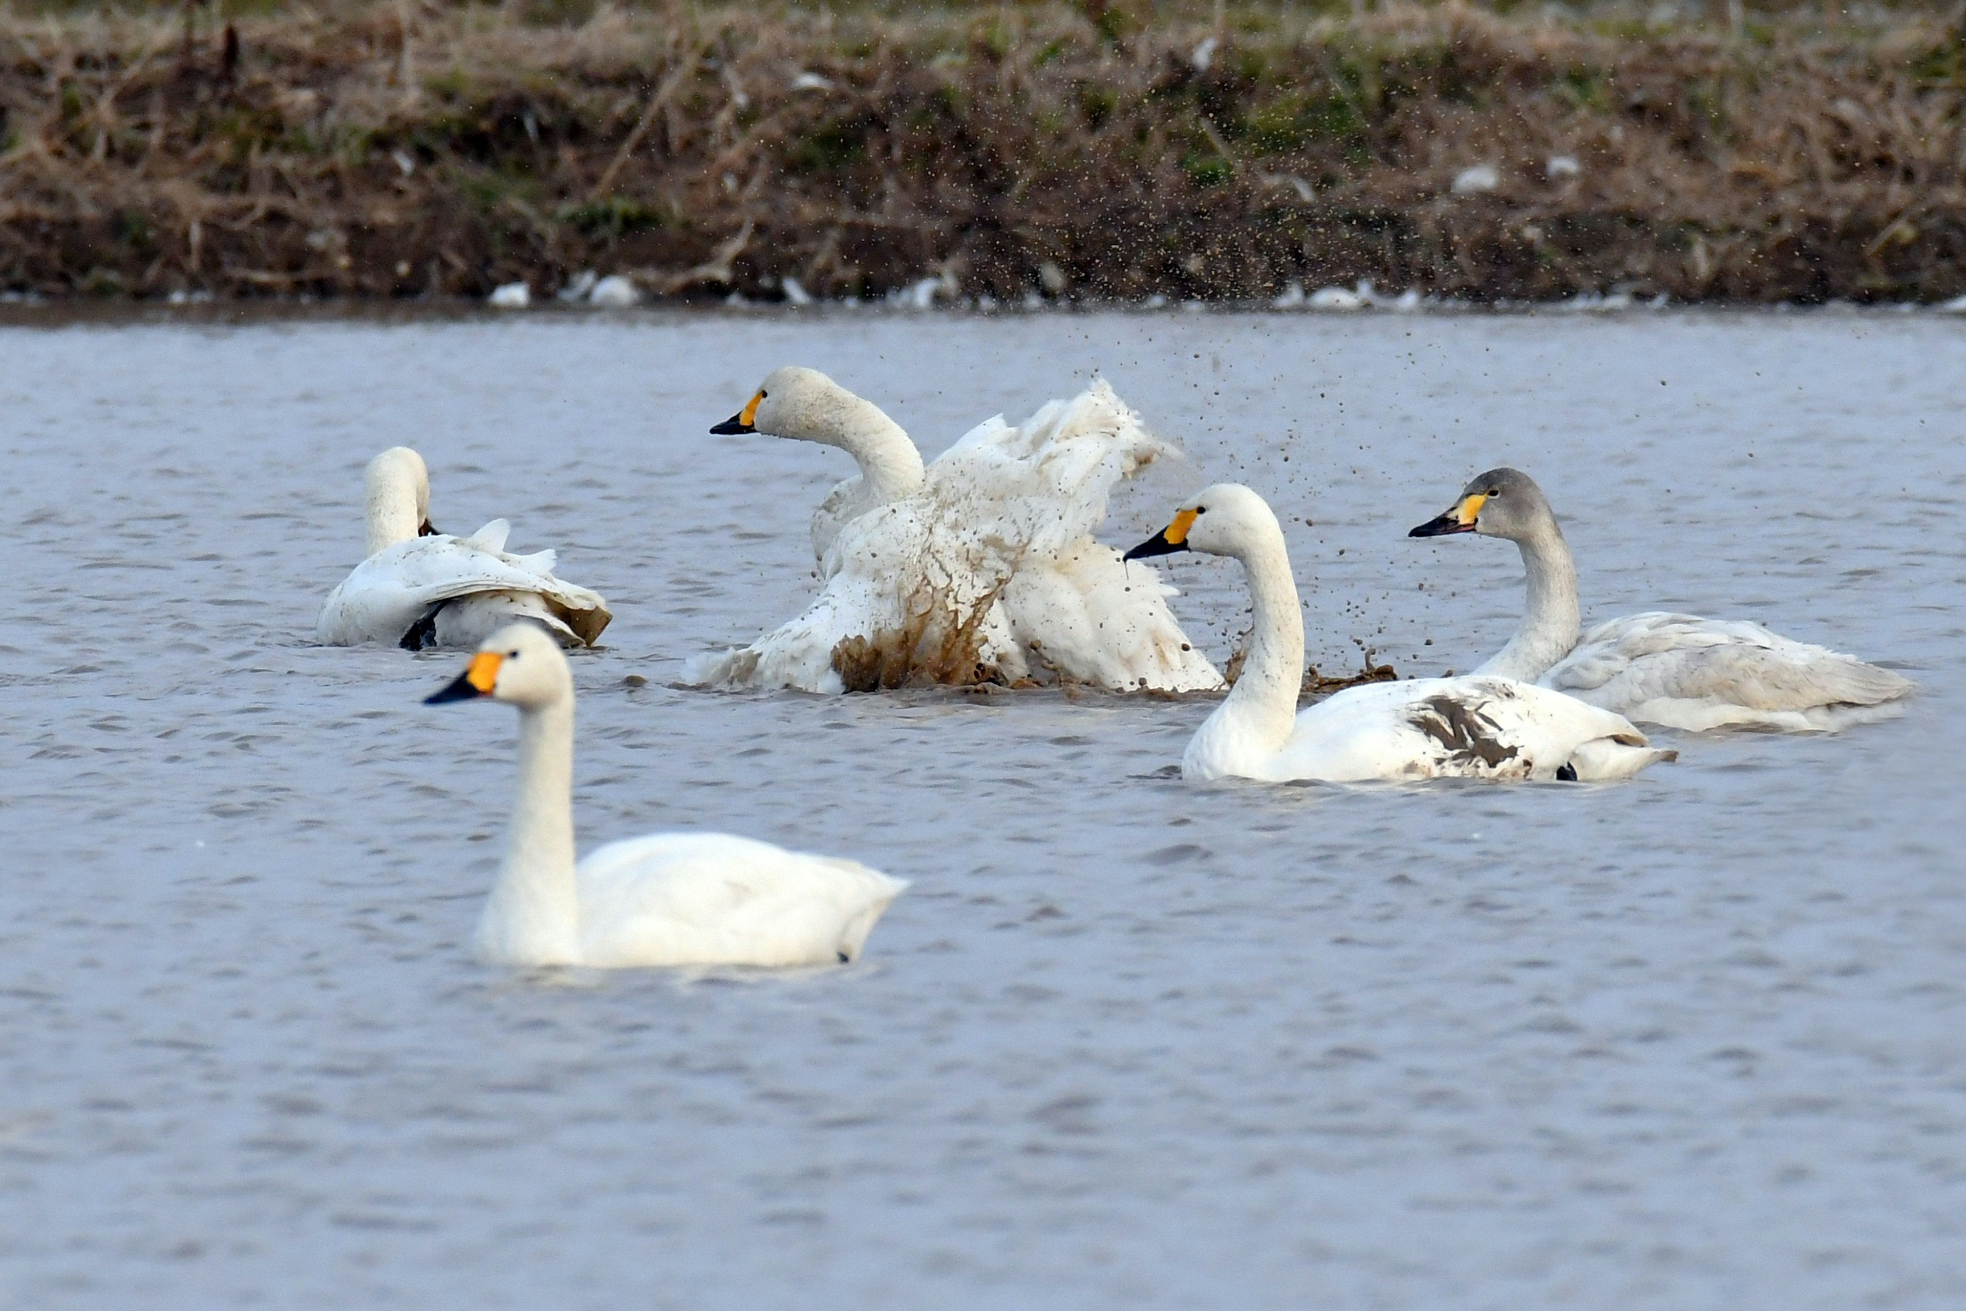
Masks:
[[[1018,427],[991,419],[926,468],[893,419],[814,370],[777,370],[712,430],[839,446],[861,472],[812,517],[812,607],[747,649],[698,656],[688,682],[841,692],[1048,672],[1117,690],[1223,686],[1168,609],[1176,592],[1091,537],[1113,484],[1174,454],[1105,381]]]

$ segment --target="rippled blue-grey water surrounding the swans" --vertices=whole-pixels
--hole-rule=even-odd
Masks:
[[[8,1305],[1966,1297],[1958,324],[153,322],[0,358]],[[1616,788],[1339,790],[1168,778],[1205,702],[670,688],[812,588],[845,458],[704,434],[784,362],[928,448],[1105,370],[1197,464],[1107,539],[1250,482],[1327,670],[1506,639],[1514,550],[1404,533],[1514,462],[1587,617],[1762,619],[1923,694]],[[861,965],[468,959],[511,712],[419,706],[454,655],[307,643],[391,442],[438,527],[509,515],[615,605],[584,845],[912,879]],[[1233,566],[1172,570],[1225,655]]]

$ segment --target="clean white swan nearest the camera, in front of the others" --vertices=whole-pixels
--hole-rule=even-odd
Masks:
[[[729,833],[651,833],[574,863],[574,678],[531,623],[493,633],[427,706],[519,708],[519,800],[478,918],[493,965],[832,965],[859,955],[908,886],[824,855]]]

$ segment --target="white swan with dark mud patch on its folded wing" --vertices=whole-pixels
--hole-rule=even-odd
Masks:
[[[1675,757],[1608,710],[1510,678],[1372,682],[1300,712],[1303,617],[1264,499],[1207,487],[1127,558],[1176,550],[1241,560],[1256,623],[1243,676],[1182,755],[1184,778],[1630,778]]]

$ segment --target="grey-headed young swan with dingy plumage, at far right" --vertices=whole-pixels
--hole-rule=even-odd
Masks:
[[[1410,537],[1480,533],[1522,548],[1530,613],[1476,674],[1539,682],[1644,723],[1830,731],[1899,713],[1909,678],[1740,619],[1644,611],[1579,641],[1577,564],[1543,489],[1498,468]]]

